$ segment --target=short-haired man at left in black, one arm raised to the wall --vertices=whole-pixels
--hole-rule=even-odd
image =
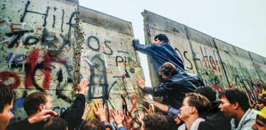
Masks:
[[[81,122],[82,114],[85,107],[85,87],[88,85],[87,80],[82,80],[79,83],[79,94],[77,95],[76,100],[74,100],[72,106],[70,106],[65,112],[60,115],[60,118],[65,119],[68,123],[68,129],[74,129],[79,122]],[[31,119],[35,115],[40,114],[43,110],[52,109],[52,99],[50,95],[45,92],[35,92],[28,95],[23,102],[23,107],[28,118]],[[46,122],[38,122],[27,126],[27,129],[40,129]],[[21,129],[17,125],[11,124],[9,129]]]

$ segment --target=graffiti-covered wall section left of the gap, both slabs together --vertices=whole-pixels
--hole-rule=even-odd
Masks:
[[[86,78],[85,96],[93,108],[94,101],[104,101],[110,119],[112,110],[123,110],[128,129],[138,126],[135,112],[143,102],[135,76],[143,70],[131,45],[130,22],[79,10],[73,1],[0,1],[0,83],[18,95],[12,122],[26,117],[23,99],[35,91],[48,92],[53,110],[64,112]]]

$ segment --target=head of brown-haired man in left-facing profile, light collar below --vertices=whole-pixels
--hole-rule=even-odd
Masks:
[[[177,118],[189,122],[191,119],[205,118],[211,110],[211,102],[204,95],[187,93],[179,110]]]

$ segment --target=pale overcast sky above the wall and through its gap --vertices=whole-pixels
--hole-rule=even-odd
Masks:
[[[131,21],[143,44],[141,12],[148,10],[266,57],[266,0],[79,0],[79,5]]]

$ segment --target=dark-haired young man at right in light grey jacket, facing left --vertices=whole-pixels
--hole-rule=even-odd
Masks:
[[[251,129],[255,123],[256,114],[250,109],[248,96],[236,88],[223,90],[220,95],[219,109],[231,119],[231,129]]]

